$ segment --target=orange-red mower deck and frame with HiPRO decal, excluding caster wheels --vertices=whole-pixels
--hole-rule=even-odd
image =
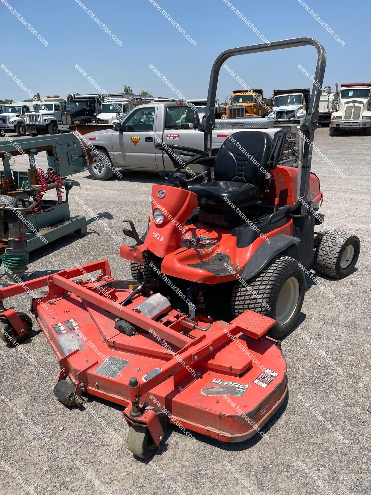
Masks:
[[[96,280],[71,280],[97,270]],[[139,283],[116,281],[105,260],[28,283],[26,290],[48,285],[33,309],[58,358],[58,382],[69,377],[77,396],[123,405],[129,424],[144,416],[131,417],[133,403],[147,402],[171,423],[224,442],[257,433],[287,393],[285,359],[277,341],[266,337],[275,320],[245,311],[231,323],[192,321],[159,294],[148,309],[152,292],[122,306]],[[21,292],[22,285],[13,285],[0,297]],[[15,311],[1,315],[16,328]],[[120,321],[133,331],[117,330]]]

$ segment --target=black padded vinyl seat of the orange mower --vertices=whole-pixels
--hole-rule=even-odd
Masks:
[[[266,132],[240,131],[226,139],[214,162],[214,181],[189,188],[201,206],[246,206],[264,193],[273,140]],[[226,199],[225,199],[226,198]]]

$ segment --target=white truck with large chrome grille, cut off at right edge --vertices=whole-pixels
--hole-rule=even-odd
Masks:
[[[341,131],[364,130],[371,136],[371,83],[344,83],[337,110],[331,115],[329,135]]]

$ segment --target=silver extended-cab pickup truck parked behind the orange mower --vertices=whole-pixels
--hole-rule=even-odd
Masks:
[[[174,171],[170,158],[155,145],[167,143],[203,150],[204,133],[197,130],[198,125],[197,112],[183,101],[140,105],[125,115],[115,128],[82,137],[94,158],[89,167],[90,175],[93,179],[107,180],[113,177],[115,169]],[[273,119],[269,118],[216,120],[212,154],[218,152],[228,136],[243,129],[261,130],[273,137],[278,127],[273,128]],[[195,173],[203,171],[202,165],[197,164],[192,164],[190,169]]]

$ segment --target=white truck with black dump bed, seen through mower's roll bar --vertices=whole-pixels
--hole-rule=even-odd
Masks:
[[[305,88],[274,90],[273,97],[272,112],[269,116],[279,125],[280,122],[298,124],[306,115],[311,95],[309,88]]]

